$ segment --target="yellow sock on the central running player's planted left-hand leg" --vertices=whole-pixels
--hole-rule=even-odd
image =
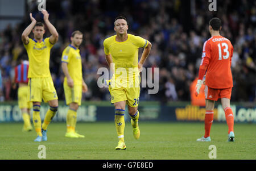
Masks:
[[[115,109],[115,128],[117,130],[117,136],[119,141],[124,142],[124,135],[125,132],[125,110],[122,109]]]

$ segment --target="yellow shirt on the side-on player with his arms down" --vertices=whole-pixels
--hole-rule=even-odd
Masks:
[[[74,85],[82,85],[82,61],[80,50],[68,45],[62,53],[61,62],[68,64],[68,72]],[[64,78],[64,84],[67,85],[67,77]]]

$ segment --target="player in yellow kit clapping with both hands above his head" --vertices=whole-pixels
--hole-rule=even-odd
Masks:
[[[51,36],[43,39],[44,32],[46,31],[44,24],[36,22],[31,13],[31,24],[22,33],[22,41],[27,50],[30,63],[30,67],[28,68],[28,86],[30,87],[28,98],[30,102],[33,102],[33,123],[36,134],[38,135],[34,141],[47,140],[47,127],[58,108],[58,97],[49,70],[49,58],[51,48],[58,40],[59,34],[56,28],[49,22],[48,12],[42,10],[42,13],[44,15],[44,22],[49,32],[51,32]],[[28,37],[31,31],[34,34],[34,39]],[[42,98],[44,102],[49,103],[49,109],[41,127],[40,105]]]

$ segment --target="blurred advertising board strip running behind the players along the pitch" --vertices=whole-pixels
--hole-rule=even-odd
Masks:
[[[179,103],[179,106],[168,106],[151,104],[139,105],[140,121],[159,121],[159,122],[204,122],[205,108],[191,106]],[[243,107],[232,105],[235,122],[256,123],[256,107]],[[47,105],[42,105],[40,116],[43,119]],[[67,118],[68,106],[60,105],[53,122],[65,122]],[[125,110],[125,120],[130,122],[128,109]],[[32,118],[32,110],[30,112]],[[225,112],[221,105],[214,108],[214,122],[226,122]],[[77,122],[113,122],[114,106],[113,105],[82,105],[77,111]],[[23,122],[20,109],[15,103],[13,105],[0,105],[0,122]]]

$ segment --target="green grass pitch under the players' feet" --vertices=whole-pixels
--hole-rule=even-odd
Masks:
[[[116,151],[114,123],[77,123],[85,138],[64,137],[65,123],[52,122],[48,141],[35,143],[35,130],[22,132],[23,123],[0,123],[0,159],[39,159],[39,145],[46,146],[46,159],[158,160],[209,159],[209,145],[216,145],[217,159],[256,159],[256,124],[235,123],[235,142],[227,142],[226,123],[213,123],[210,142],[197,142],[204,123],[139,122],[141,138],[135,140],[129,122],[125,125],[126,150]]]

